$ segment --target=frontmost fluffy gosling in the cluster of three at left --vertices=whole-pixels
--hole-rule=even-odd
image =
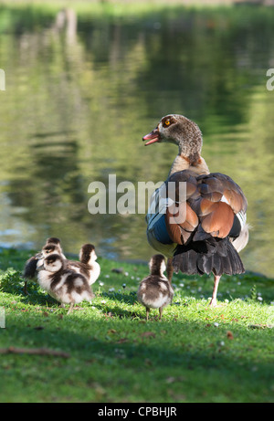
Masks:
[[[50,254],[38,260],[37,279],[40,287],[51,297],[62,304],[69,304],[67,314],[74,304],[94,298],[88,279],[69,269],[66,260],[59,254]]]

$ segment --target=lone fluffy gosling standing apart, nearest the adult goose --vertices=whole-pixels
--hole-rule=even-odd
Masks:
[[[168,279],[163,275],[163,272],[166,269],[163,255],[154,255],[150,259],[149,267],[150,275],[142,279],[137,291],[137,298],[146,308],[147,321],[150,309],[159,309],[161,321],[163,307],[172,302],[174,289]]]

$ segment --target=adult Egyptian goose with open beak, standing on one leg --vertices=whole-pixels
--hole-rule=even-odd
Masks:
[[[166,201],[161,189],[153,195],[146,216],[148,241],[168,258],[169,279],[179,270],[199,275],[213,272],[210,305],[216,306],[222,274],[245,271],[238,252],[248,243],[247,199],[230,177],[210,174],[201,156],[202,133],[194,121],[183,115],[167,115],[142,140],[148,141],[145,145],[170,142],[179,148],[163,184]]]

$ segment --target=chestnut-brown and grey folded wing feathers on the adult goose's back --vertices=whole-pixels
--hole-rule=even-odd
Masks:
[[[181,198],[182,182],[185,195]],[[247,199],[241,188],[225,174],[196,177],[184,170],[172,174],[166,184],[167,192],[169,185],[174,186],[175,203],[167,209],[165,224],[169,236],[179,245],[186,244],[190,238],[198,241],[210,236],[227,237],[236,214],[247,210]]]

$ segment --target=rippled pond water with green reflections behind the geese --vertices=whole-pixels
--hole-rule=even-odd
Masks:
[[[247,269],[273,275],[274,9],[142,14],[0,7],[0,247],[153,254],[144,214],[90,215],[91,182],[164,180],[177,150],[142,136],[171,112],[196,121],[212,172],[248,197]],[[273,84],[274,85],[274,84]]]

